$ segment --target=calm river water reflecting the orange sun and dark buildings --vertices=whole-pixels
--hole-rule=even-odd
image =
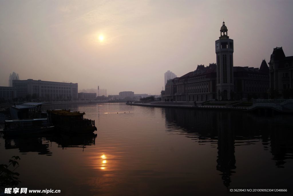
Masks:
[[[21,158],[18,188],[61,190],[54,195],[226,195],[234,188],[290,191],[292,185],[291,115],[125,103],[45,109],[85,112],[98,131],[0,134],[0,164]]]

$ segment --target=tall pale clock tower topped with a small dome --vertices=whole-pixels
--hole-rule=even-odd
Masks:
[[[225,22],[223,22],[220,32],[221,36],[216,41],[217,99],[230,100],[234,95],[233,40],[229,39]]]

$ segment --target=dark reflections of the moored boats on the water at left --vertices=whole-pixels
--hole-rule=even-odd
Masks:
[[[97,134],[87,133],[78,135],[42,133],[25,135],[0,135],[5,139],[5,149],[19,149],[21,153],[38,152],[38,154],[52,155],[52,143],[58,147],[84,148],[95,145]]]

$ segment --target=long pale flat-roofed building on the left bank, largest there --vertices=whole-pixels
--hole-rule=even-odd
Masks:
[[[42,100],[77,100],[78,84],[51,82],[41,80],[13,80],[15,97],[25,98],[27,95]]]

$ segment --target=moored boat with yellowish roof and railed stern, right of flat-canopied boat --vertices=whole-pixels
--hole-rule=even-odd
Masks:
[[[52,124],[60,131],[69,133],[91,133],[97,130],[95,121],[83,118],[85,113],[70,110],[47,110]]]

